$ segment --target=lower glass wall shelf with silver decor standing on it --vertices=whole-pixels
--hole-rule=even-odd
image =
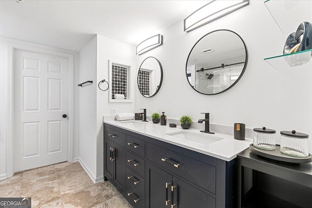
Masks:
[[[281,73],[312,71],[312,49],[264,59]]]

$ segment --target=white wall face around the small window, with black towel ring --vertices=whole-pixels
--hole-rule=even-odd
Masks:
[[[115,39],[98,37],[97,53],[97,178],[103,176],[103,115],[110,115],[111,108],[116,109],[116,113],[134,112],[134,103],[110,103],[109,90],[101,91],[98,89],[98,82],[105,79],[109,82],[108,60],[126,62],[133,64],[131,69],[131,90],[137,87],[136,70],[136,48],[127,43]],[[104,86],[104,84],[103,84]],[[105,85],[106,86],[106,85]],[[134,94],[133,94],[134,95]],[[135,97],[131,98],[133,101]],[[81,147],[81,146],[80,146]]]

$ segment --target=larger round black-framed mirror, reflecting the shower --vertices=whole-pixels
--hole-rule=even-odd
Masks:
[[[215,30],[200,38],[186,61],[186,78],[204,95],[231,89],[243,76],[248,61],[244,40],[231,30]]]

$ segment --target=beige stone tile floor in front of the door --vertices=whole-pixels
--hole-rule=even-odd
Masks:
[[[31,197],[32,208],[132,208],[109,181],[94,184],[79,162],[16,173],[0,181],[0,197]]]

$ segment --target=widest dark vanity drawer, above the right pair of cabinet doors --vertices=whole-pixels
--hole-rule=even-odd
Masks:
[[[215,194],[215,167],[193,158],[146,143],[146,158]]]

